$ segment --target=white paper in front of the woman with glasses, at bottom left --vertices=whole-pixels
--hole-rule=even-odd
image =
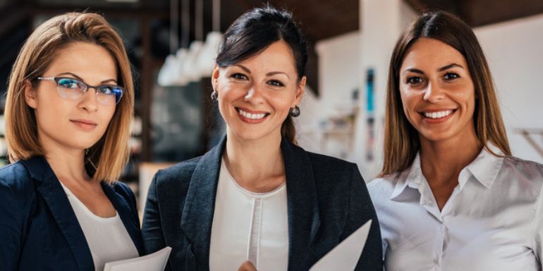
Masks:
[[[164,271],[170,251],[171,247],[166,246],[146,256],[109,262],[104,271]]]

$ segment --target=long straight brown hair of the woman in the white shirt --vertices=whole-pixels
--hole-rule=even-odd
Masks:
[[[379,177],[408,168],[420,149],[419,134],[405,117],[399,90],[400,68],[405,53],[420,37],[437,39],[462,53],[475,85],[475,131],[480,144],[494,144],[504,155],[511,156],[511,149],[501,119],[492,75],[477,37],[462,20],[445,11],[421,15],[403,31],[394,47],[386,87],[384,125],[384,163]]]

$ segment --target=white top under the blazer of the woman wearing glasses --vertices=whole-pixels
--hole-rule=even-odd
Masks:
[[[62,182],[61,182],[62,184]],[[138,257],[138,249],[128,235],[118,213],[113,218],[94,215],[73,193],[62,184],[92,254],[94,270],[104,270],[104,265],[114,260]]]

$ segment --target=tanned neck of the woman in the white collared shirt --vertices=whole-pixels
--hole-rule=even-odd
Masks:
[[[480,153],[482,145],[475,130],[444,141],[430,141],[421,136],[422,174],[431,182],[458,182],[460,171]]]

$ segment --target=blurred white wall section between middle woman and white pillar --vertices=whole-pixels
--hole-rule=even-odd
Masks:
[[[359,87],[360,32],[350,32],[317,42],[319,56],[319,97],[306,89],[296,118],[298,141],[308,151],[352,160],[349,134],[329,136],[325,123],[353,108],[352,94]],[[328,135],[327,140],[326,134]],[[353,137],[351,134],[350,137]]]

